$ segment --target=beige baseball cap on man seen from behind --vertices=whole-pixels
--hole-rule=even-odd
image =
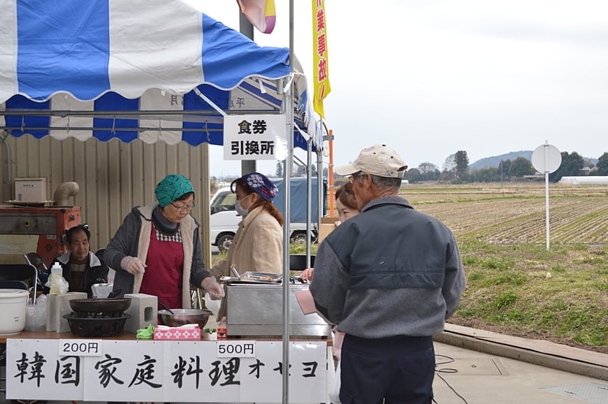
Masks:
[[[359,153],[359,157],[353,161],[353,164],[334,168],[334,172],[342,176],[363,171],[363,173],[388,178],[403,178],[403,171],[405,170],[407,170],[407,164],[403,162],[395,150],[386,145],[365,147]]]

